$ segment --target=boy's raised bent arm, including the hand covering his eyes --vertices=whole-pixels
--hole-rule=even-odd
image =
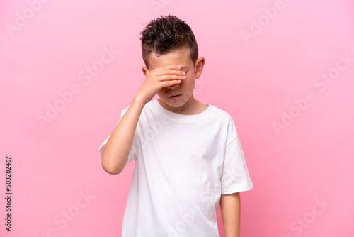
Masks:
[[[149,71],[147,67],[143,69],[146,79],[125,114],[120,118],[118,125],[115,126],[103,150],[103,170],[112,175],[119,174],[127,165],[137,123],[145,104],[151,101],[161,88],[180,84],[181,80],[185,79],[181,66],[177,65],[157,67],[152,71]]]

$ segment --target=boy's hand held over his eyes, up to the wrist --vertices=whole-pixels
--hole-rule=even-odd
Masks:
[[[151,101],[161,88],[180,84],[181,80],[185,79],[185,72],[181,71],[181,66],[179,65],[166,65],[151,71],[146,70],[147,77],[136,94],[145,103]]]

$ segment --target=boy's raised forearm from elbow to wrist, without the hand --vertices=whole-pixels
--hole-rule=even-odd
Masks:
[[[102,167],[106,172],[117,175],[127,164],[135,129],[145,104],[142,99],[135,96],[118,125],[115,126],[103,151]]]

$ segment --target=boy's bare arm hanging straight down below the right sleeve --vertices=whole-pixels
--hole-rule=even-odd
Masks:
[[[222,212],[225,237],[239,237],[241,220],[240,193],[221,195],[220,210]]]

